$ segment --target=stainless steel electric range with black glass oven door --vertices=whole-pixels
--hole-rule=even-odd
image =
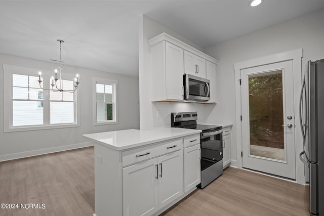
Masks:
[[[204,188],[223,174],[223,128],[217,125],[197,124],[197,112],[171,113],[171,126],[200,129],[200,170]]]

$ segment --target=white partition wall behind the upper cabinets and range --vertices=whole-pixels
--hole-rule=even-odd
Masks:
[[[206,113],[216,106],[215,104],[193,104],[193,103],[167,103],[151,102],[151,65],[150,47],[148,40],[152,37],[166,32],[171,36],[185,42],[186,44],[204,52],[204,49],[194,44],[185,37],[168,29],[146,16],[139,19],[139,83],[140,83],[140,128],[151,129],[154,127],[168,127],[171,125],[171,112],[197,111],[198,120],[206,121]],[[157,118],[157,110],[161,118]]]

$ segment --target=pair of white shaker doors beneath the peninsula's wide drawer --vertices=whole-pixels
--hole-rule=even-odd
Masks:
[[[123,168],[123,214],[151,215],[183,194],[182,151]]]

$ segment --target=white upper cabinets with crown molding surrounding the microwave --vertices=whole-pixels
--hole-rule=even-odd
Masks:
[[[216,74],[211,72],[216,73],[216,59],[166,33],[161,33],[148,42],[151,51],[151,101],[183,101],[184,73],[216,80]],[[215,64],[215,69],[211,69],[208,63]],[[215,85],[216,81],[211,81],[211,100],[207,103],[216,102]]]

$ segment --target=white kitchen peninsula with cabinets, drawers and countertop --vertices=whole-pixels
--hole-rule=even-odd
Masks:
[[[95,216],[155,215],[200,183],[200,130],[83,135],[95,146]]]

